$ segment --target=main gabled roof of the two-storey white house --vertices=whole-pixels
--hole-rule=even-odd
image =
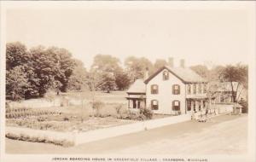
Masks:
[[[202,78],[200,75],[198,75],[196,72],[191,70],[188,67],[161,67],[157,72],[154,72],[148,79],[145,80],[145,84],[148,84],[148,82],[154,78],[158,73],[160,73],[162,70],[168,70],[173,75],[175,75],[177,78],[183,81],[183,83],[207,83],[207,80],[205,78]]]

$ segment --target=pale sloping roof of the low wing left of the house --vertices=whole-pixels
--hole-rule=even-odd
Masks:
[[[144,84],[143,79],[137,79],[133,84],[131,84],[129,90],[127,90],[129,94],[145,94],[146,93],[146,84]]]

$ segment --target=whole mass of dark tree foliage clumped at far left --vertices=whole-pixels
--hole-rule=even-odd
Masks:
[[[7,95],[31,98],[44,96],[49,89],[66,91],[75,65],[67,49],[38,46],[27,50],[24,44],[16,42],[6,45],[6,67]],[[22,78],[18,86],[22,93],[17,93],[12,81],[18,74],[17,80]]]

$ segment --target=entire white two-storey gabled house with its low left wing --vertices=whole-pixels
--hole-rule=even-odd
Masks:
[[[196,113],[207,107],[207,80],[181,61],[180,67],[161,67],[145,79],[137,79],[127,91],[128,107],[142,105],[154,113]]]

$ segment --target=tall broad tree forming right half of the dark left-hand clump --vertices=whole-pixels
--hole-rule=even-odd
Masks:
[[[39,96],[44,96],[46,91],[53,86],[55,81],[61,84],[58,87],[62,92],[67,91],[67,84],[73,73],[74,61],[67,49],[51,47],[49,49],[38,46],[30,49],[32,55],[31,67],[37,82],[33,82]]]

